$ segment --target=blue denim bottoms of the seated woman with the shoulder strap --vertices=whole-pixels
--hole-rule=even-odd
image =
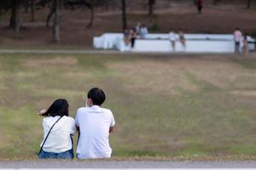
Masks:
[[[73,159],[73,149],[61,153],[47,152],[42,150],[38,155],[40,159]]]

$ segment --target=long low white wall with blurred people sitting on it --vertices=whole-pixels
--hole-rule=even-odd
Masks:
[[[177,41],[175,52],[184,53],[234,53],[235,43],[231,34],[185,34],[186,47]],[[94,37],[94,48],[134,52],[174,52],[168,34],[148,34],[145,39],[137,39],[135,47],[126,46],[122,33],[105,33]],[[254,50],[255,40],[248,37],[249,49]]]

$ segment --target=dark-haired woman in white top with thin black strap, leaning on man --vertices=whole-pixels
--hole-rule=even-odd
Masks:
[[[56,99],[47,111],[40,111],[43,120],[44,140],[38,157],[42,159],[73,159],[72,135],[76,131],[75,121],[68,116],[66,99]]]

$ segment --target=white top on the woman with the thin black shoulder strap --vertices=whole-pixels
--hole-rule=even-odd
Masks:
[[[43,120],[44,139],[49,133],[50,127],[60,118],[60,116],[48,116]],[[75,121],[73,117],[62,116],[61,120],[51,129],[48,138],[44,144],[44,151],[61,153],[72,149],[72,140],[70,134],[76,132]],[[43,140],[44,142],[44,140]],[[41,143],[41,146],[43,144]]]

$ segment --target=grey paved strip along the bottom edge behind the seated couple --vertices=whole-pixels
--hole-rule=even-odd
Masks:
[[[255,168],[256,161],[0,161],[1,168]]]

